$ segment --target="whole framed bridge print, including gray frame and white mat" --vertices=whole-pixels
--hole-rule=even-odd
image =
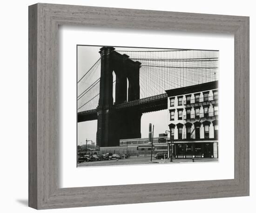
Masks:
[[[29,7],[29,206],[247,195],[248,17]]]

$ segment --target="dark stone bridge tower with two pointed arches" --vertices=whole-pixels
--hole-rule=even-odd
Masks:
[[[102,47],[99,53],[101,80],[97,107],[97,145],[119,146],[120,139],[141,138],[142,113],[136,109],[115,109],[116,104],[140,99],[141,63],[130,60],[126,54],[117,53],[114,47]],[[115,103],[113,72],[116,76]]]

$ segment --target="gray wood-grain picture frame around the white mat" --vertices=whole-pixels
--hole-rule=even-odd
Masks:
[[[49,209],[249,195],[249,17],[39,3],[29,6],[28,18],[30,207]],[[234,179],[60,188],[59,25],[234,34]]]

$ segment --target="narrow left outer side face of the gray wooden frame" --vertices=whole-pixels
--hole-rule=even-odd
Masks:
[[[37,207],[37,6],[28,11],[28,205]]]

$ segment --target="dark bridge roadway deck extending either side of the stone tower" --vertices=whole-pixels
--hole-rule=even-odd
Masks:
[[[113,105],[113,108],[118,111],[132,108],[133,110],[138,110],[141,113],[167,109],[167,93]],[[97,120],[97,109],[77,113],[77,122],[88,120]]]

